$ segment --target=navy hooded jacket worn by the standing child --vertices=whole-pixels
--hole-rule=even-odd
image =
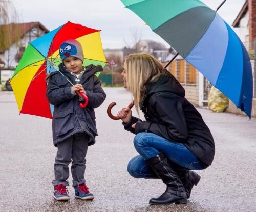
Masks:
[[[62,65],[59,65],[63,73],[74,85],[77,84],[75,78]],[[53,144],[57,146],[61,142],[74,134],[86,133],[91,139],[88,145],[95,143],[95,136],[98,135],[95,123],[94,108],[99,107],[106,98],[106,94],[101,88],[101,83],[94,74],[102,71],[101,66],[93,64],[86,67],[79,84],[82,84],[89,103],[86,108],[79,107],[79,96],[71,92],[72,85],[58,71],[52,72],[47,85],[47,98],[54,105],[52,134]]]

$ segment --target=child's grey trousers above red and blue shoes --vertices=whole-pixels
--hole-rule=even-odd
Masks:
[[[63,184],[68,186],[69,164],[73,177],[73,186],[86,182],[84,172],[86,170],[86,154],[90,137],[86,134],[76,134],[65,141],[57,144],[57,155],[55,157],[53,185]]]

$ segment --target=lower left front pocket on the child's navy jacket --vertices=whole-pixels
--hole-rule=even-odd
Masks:
[[[55,115],[55,134],[62,136],[74,129],[73,108],[59,111]]]

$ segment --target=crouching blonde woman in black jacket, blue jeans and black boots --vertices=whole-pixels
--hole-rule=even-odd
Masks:
[[[127,56],[122,76],[137,113],[140,109],[145,117],[145,121],[135,118],[129,108],[118,112],[124,128],[136,134],[139,155],[129,162],[128,172],[135,178],[160,178],[166,184],[166,191],[150,199],[150,204],[186,204],[200,180],[191,170],[205,169],[214,159],[210,130],[184,97],[184,88],[151,55]]]

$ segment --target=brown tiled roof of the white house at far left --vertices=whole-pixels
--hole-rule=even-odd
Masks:
[[[42,25],[40,22],[28,22],[28,23],[10,23],[7,25],[0,25],[0,30],[1,28],[5,28],[5,30],[9,32],[13,32],[15,30],[15,35],[11,34],[10,37],[10,42],[8,45],[5,46],[5,49],[0,49],[1,51],[7,50],[13,43],[17,41],[17,38],[22,39],[27,32],[29,32],[31,29],[34,27],[41,29],[45,33],[50,32],[44,25]],[[37,34],[37,36],[41,36],[41,34]]]

